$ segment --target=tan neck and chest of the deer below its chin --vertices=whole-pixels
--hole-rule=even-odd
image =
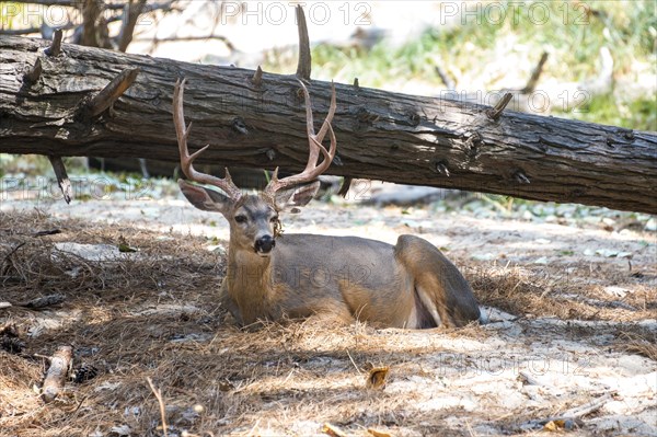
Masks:
[[[273,255],[272,255],[273,256]],[[272,319],[272,257],[253,251],[229,250],[228,292],[238,303],[244,324]]]

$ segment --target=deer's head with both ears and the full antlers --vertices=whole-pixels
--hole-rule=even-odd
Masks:
[[[303,206],[316,194],[320,183],[318,176],[322,174],[335,157],[337,142],[331,127],[335,114],[335,87],[332,87],[331,107],[315,135],[312,120],[310,95],[303,82],[299,81],[306,99],[306,124],[310,152],[306,169],[299,173],[284,179],[278,179],[278,169],[274,171],[272,180],[262,193],[243,194],[232,182],[228,169],[224,177],[217,177],[200,173],[192,165],[193,161],[209,146],[189,154],[187,137],[189,128],[185,126],[183,113],[183,92],[185,81],[176,82],[173,93],[173,120],[181,153],[181,168],[183,173],[199,184],[212,185],[222,191],[219,193],[200,185],[191,184],[178,180],[181,191],[195,207],[221,212],[230,225],[230,241],[232,250],[254,251],[261,256],[268,256],[276,245],[276,237],[280,231],[279,211],[288,206]],[[331,147],[328,150],[322,146],[324,136],[328,133]],[[323,159],[318,164],[322,154]]]

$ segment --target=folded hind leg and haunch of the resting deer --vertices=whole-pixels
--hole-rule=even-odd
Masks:
[[[417,304],[434,318],[437,326],[463,326],[480,319],[472,288],[461,272],[428,241],[401,235],[395,256],[414,278]]]

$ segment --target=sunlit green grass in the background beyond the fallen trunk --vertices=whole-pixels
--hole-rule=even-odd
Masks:
[[[509,3],[506,8],[509,8]],[[527,2],[527,4],[531,4]],[[416,81],[438,95],[445,88],[435,71],[440,62],[459,91],[497,90],[507,74],[522,87],[540,55],[550,58],[539,81],[580,82],[598,74],[602,47],[611,50],[614,79],[635,78],[639,72],[657,77],[657,12],[653,1],[588,1],[585,10],[576,2],[541,2],[549,20],[533,23],[528,7],[497,22],[471,18],[465,25],[430,28],[401,47],[383,41],[371,49],[318,45],[313,48],[313,77],[362,87],[385,88]],[[541,7],[543,8],[543,7]],[[539,11],[539,9],[537,9]],[[534,18],[540,18],[537,12]],[[495,16],[493,16],[496,19]],[[291,60],[295,61],[293,59]],[[267,66],[283,70],[291,66]],[[461,79],[461,80],[459,80]],[[657,79],[656,79],[657,80]],[[506,83],[508,85],[508,83]],[[598,95],[580,111],[553,114],[592,123],[657,130],[655,95],[622,102],[622,90]]]

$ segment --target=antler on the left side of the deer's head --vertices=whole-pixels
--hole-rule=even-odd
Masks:
[[[226,169],[226,176],[221,179],[212,176],[211,174],[198,172],[192,165],[194,160],[198,158],[198,156],[208,147],[210,147],[210,145],[205,146],[192,154],[189,154],[189,150],[187,149],[187,138],[192,131],[192,123],[189,123],[188,126],[185,126],[183,95],[186,81],[186,79],[183,79],[182,81],[178,79],[175,82],[175,89],[173,91],[173,124],[175,126],[175,135],[178,142],[178,151],[181,153],[181,169],[183,170],[183,173],[185,173],[185,176],[187,176],[187,179],[191,181],[221,188],[230,198],[238,200],[242,196],[242,192],[235,184],[233,184],[228,169]]]

